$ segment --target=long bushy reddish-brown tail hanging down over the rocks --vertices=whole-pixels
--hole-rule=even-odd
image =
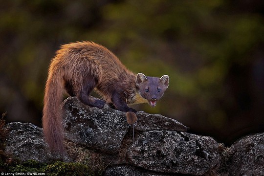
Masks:
[[[62,110],[60,104],[63,97],[63,79],[58,71],[52,67],[49,70],[45,87],[43,109],[44,138],[52,151],[63,154]]]

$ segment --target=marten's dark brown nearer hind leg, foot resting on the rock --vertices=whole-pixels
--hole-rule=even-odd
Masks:
[[[93,98],[89,95],[93,88],[96,87],[97,83],[98,81],[92,76],[86,76],[86,78],[83,80],[82,89],[79,91],[79,93],[77,93],[77,97],[84,104],[102,109],[104,108],[106,102]]]

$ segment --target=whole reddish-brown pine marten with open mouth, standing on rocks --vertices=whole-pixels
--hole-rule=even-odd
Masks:
[[[43,131],[52,151],[64,153],[61,125],[64,90],[84,104],[103,108],[111,103],[124,112],[136,110],[127,104],[156,102],[169,86],[169,76],[148,77],[135,75],[106,47],[93,42],[64,44],[56,52],[48,70],[44,93]],[[96,89],[104,100],[89,96]]]

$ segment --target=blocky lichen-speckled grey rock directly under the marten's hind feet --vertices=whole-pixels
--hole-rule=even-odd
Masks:
[[[118,153],[121,142],[128,132],[125,112],[91,108],[76,97],[64,101],[65,138],[104,153]]]

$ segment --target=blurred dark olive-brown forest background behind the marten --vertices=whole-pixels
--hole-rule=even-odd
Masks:
[[[155,108],[227,146],[264,132],[263,0],[0,0],[0,112],[41,126],[61,44],[93,41],[134,73],[170,76]]]

